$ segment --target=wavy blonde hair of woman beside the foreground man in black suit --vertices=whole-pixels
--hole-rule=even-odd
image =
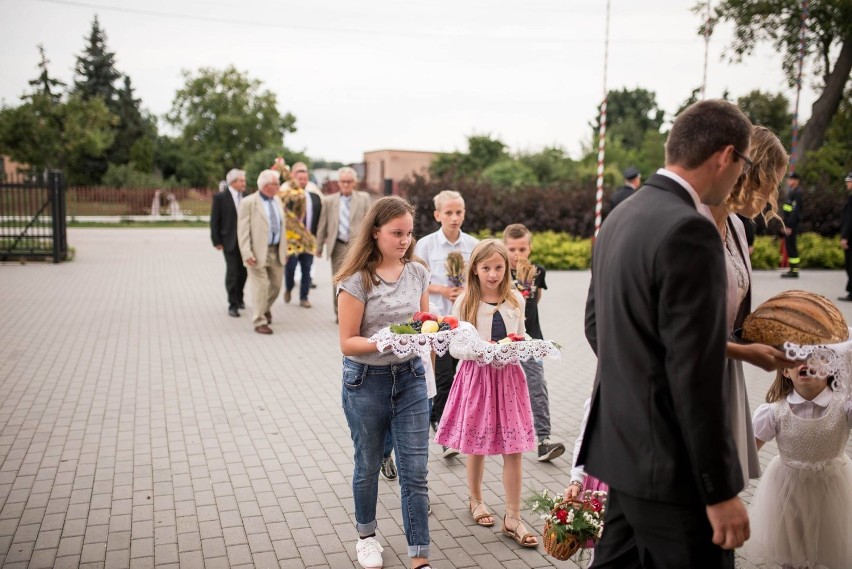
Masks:
[[[763,220],[781,218],[778,216],[778,186],[781,178],[778,171],[783,167],[786,169],[789,157],[784,145],[775,136],[775,133],[765,126],[756,126],[751,133],[751,160],[752,166],[745,176],[740,176],[731,195],[725,200],[725,206],[730,212],[741,211],[744,206],[752,205],[755,209],[759,203],[758,196],[761,188],[772,186],[772,192],[766,199],[769,209],[758,213],[763,215]],[[781,177],[783,178],[783,174]]]

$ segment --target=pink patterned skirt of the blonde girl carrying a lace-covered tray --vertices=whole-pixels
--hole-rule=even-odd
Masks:
[[[450,389],[435,441],[464,454],[535,450],[530,395],[521,366],[495,368],[463,361]]]

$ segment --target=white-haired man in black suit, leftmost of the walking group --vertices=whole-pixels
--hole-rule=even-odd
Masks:
[[[225,290],[228,291],[228,314],[240,315],[239,309],[245,308],[243,289],[248,272],[240,256],[237,243],[237,212],[246,189],[246,173],[233,169],[225,176],[228,189],[213,196],[213,209],[210,212],[210,238],[213,246],[225,254]]]

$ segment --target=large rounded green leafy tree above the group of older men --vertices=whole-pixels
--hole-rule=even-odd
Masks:
[[[296,130],[295,117],[278,111],[275,94],[232,66],[185,71],[184,79],[166,119],[180,132],[178,175],[187,175],[193,184],[216,184],[221,172],[244,165],[263,148],[281,145],[284,135]],[[181,172],[184,162],[188,167]]]

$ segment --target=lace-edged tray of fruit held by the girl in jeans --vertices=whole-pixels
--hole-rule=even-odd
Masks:
[[[375,342],[379,351],[390,349],[400,358],[429,352],[443,356],[453,338],[471,334],[475,336],[476,329],[467,322],[459,322],[455,316],[415,312],[406,322],[382,328],[369,341]]]

